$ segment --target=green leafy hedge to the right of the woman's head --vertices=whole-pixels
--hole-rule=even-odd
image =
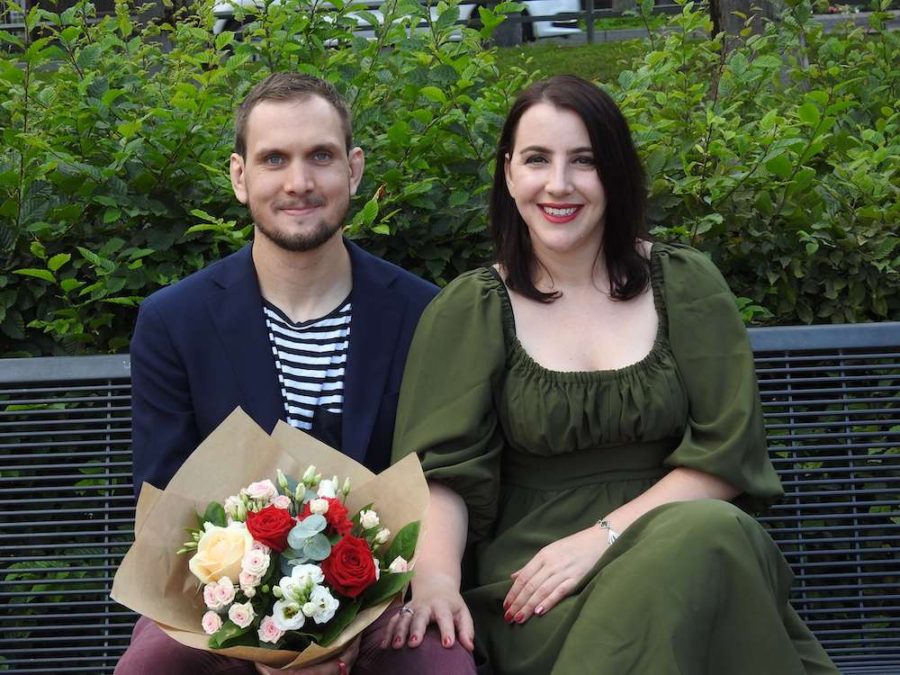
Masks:
[[[711,24],[687,4],[678,32],[620,74],[654,234],[711,253],[774,322],[896,320],[900,41],[884,13],[871,32],[829,35],[788,4],[728,54],[721,35],[691,39]]]

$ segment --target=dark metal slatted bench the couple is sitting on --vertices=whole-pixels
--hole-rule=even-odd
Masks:
[[[844,673],[900,673],[900,323],[751,330],[787,495],[761,520]],[[0,361],[0,672],[112,673],[131,540],[127,356]],[[764,649],[764,645],[760,645]]]

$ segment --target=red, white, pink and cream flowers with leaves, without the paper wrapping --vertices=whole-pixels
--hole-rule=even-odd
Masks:
[[[350,483],[323,479],[315,466],[299,481],[279,469],[277,486],[251,483],[198,514],[178,553],[193,552],[210,647],[325,647],[360,609],[406,586],[419,523],[386,546],[391,532],[371,504],[347,510]]]

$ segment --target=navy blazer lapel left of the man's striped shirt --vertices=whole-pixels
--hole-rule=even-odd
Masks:
[[[265,431],[284,417],[278,372],[263,316],[262,293],[253,267],[251,245],[221,266],[214,281],[218,292],[207,300],[213,323],[234,372],[241,407]]]

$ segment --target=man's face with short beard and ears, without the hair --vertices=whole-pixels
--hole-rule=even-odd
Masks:
[[[309,251],[341,229],[364,166],[362,150],[344,145],[337,110],[319,96],[253,108],[246,157],[231,155],[231,185],[258,235]]]

